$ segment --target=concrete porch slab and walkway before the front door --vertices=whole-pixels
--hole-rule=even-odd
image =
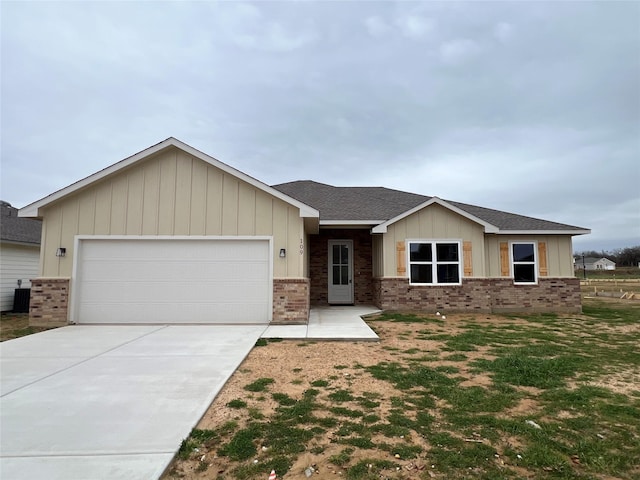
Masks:
[[[307,325],[270,325],[262,338],[290,340],[380,340],[362,317],[380,310],[370,306],[312,307]]]

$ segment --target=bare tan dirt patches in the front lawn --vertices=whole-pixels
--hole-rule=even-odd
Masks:
[[[429,366],[455,366],[459,372],[456,377],[462,377],[464,387],[485,387],[491,383],[487,375],[475,375],[469,372],[468,362],[492,357],[486,354],[487,348],[479,347],[477,351],[464,352],[467,360],[452,362],[446,360],[450,352],[443,352],[444,341],[425,340],[418,337],[425,334],[457,335],[463,331],[460,321],[468,319],[468,315],[448,315],[444,323],[393,323],[371,322],[381,338],[380,342],[301,342],[280,341],[269,342],[266,346],[256,347],[247,356],[232,378],[219,393],[209,410],[203,416],[197,428],[216,429],[228,421],[238,422],[243,427],[250,420],[246,411],[259,412],[267,419],[275,412],[278,403],[272,399],[272,393],[284,393],[294,399],[300,399],[303,393],[318,380],[329,382],[328,387],[322,389],[324,393],[346,389],[354,397],[374,396],[380,402],[375,409],[376,414],[384,417],[393,407],[391,398],[398,395],[398,390],[389,382],[373,378],[363,367],[377,365],[380,362],[404,363],[409,358],[419,358],[424,355],[433,356]],[[483,324],[504,322],[503,317],[483,316]],[[509,319],[510,324],[525,323],[518,319]],[[269,385],[268,392],[247,392],[244,387],[260,378],[272,378],[274,383]],[[246,409],[234,409],[229,402],[241,399],[247,403]],[[350,405],[351,406],[351,405]],[[531,408],[531,403],[523,403],[522,409]],[[362,408],[362,407],[357,407]],[[436,405],[432,414],[436,419],[439,415]],[[367,412],[366,413],[371,413]],[[408,416],[411,414],[408,413]],[[437,420],[436,420],[437,421]],[[320,478],[326,476],[340,478],[343,470],[329,461],[331,456],[339,454],[345,445],[333,442],[335,429],[328,429],[320,439],[316,439],[309,448],[317,447],[319,453],[309,451],[300,454],[292,468],[284,478],[306,479],[304,468],[315,465]],[[374,439],[375,440],[375,439]],[[429,443],[424,438],[413,434],[410,439],[415,445],[428,450]],[[389,439],[381,438],[389,442]],[[260,461],[261,447],[257,446],[255,458]],[[320,450],[322,450],[320,452]],[[205,471],[198,471],[198,459],[177,461],[170,470],[171,475],[166,478],[203,479],[203,478],[231,478],[229,474],[234,463],[226,457],[217,455],[216,449],[202,451],[204,460],[208,463]],[[200,457],[203,458],[203,457]],[[352,461],[364,458],[383,458],[399,463],[404,477],[421,478],[425,474],[425,460],[402,459],[390,452],[380,450],[356,449]],[[430,467],[430,465],[428,466]],[[428,468],[427,468],[428,470]],[[315,478],[318,478],[317,476]]]

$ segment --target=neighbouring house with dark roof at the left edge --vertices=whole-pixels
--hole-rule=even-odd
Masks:
[[[13,309],[19,284],[31,288],[39,273],[42,221],[18,217],[18,209],[0,201],[0,309]]]

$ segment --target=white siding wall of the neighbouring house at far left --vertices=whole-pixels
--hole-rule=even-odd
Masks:
[[[13,297],[22,280],[22,288],[31,288],[38,276],[40,247],[3,243],[0,245],[0,310],[13,310]]]

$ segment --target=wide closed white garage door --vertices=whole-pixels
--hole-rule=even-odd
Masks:
[[[268,323],[269,240],[81,239],[76,323]]]

